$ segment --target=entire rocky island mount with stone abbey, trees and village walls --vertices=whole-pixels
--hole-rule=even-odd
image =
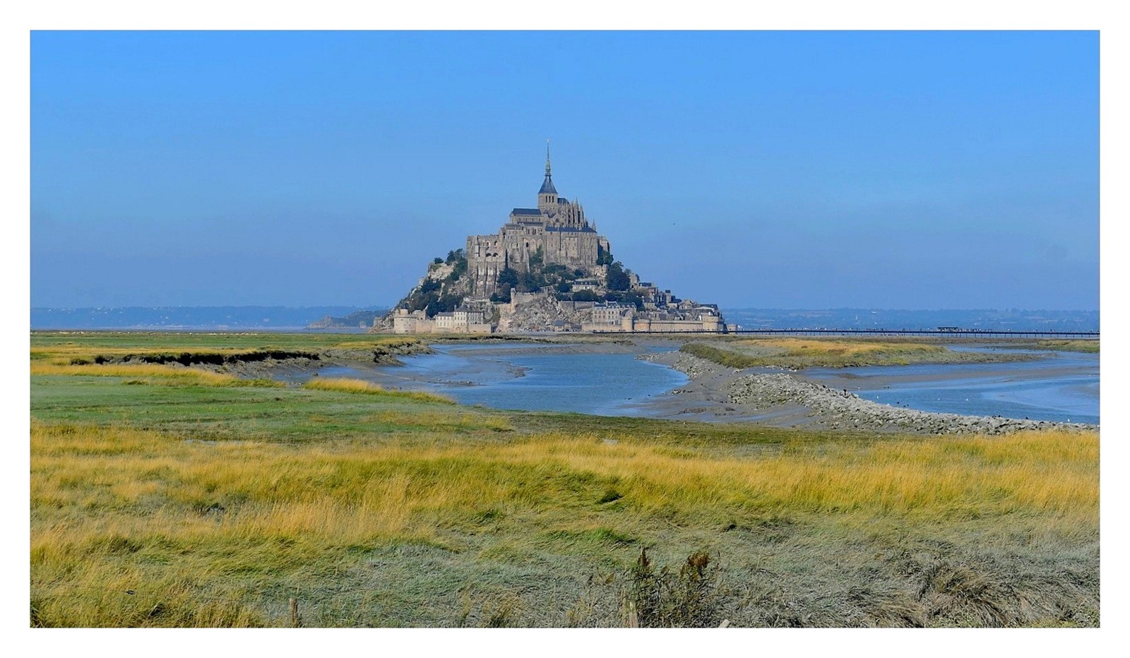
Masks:
[[[558,196],[549,146],[537,207],[436,258],[374,330],[725,332],[716,304],[677,297],[616,260],[576,199]]]

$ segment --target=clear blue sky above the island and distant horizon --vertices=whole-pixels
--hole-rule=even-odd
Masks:
[[[1097,32],[34,32],[32,306],[388,306],[536,205],[723,308],[1098,309]]]

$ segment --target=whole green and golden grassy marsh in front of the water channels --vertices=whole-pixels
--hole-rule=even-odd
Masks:
[[[271,349],[427,347],[32,336],[32,625],[284,626],[292,598],[318,626],[1098,625],[1097,431],[502,412],[124,358]]]

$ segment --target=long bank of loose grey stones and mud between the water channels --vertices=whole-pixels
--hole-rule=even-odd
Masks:
[[[649,356],[661,361],[663,355]],[[676,392],[697,392],[716,404],[739,405],[751,412],[768,412],[783,407],[803,407],[811,427],[915,434],[1005,434],[1022,430],[1095,430],[1083,423],[1024,421],[999,416],[962,416],[905,409],[880,405],[845,390],[829,389],[792,374],[742,374],[713,362],[679,353],[669,365],[695,382],[705,382],[699,390],[687,387]],[[709,380],[709,381],[707,381]]]

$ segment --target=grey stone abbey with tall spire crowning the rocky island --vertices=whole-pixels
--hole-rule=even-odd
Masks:
[[[505,268],[527,271],[540,253],[545,265],[563,265],[586,276],[602,274],[599,265],[609,253],[608,240],[597,234],[577,201],[557,196],[546,145],[546,179],[538,190],[537,208],[514,208],[510,220],[492,235],[467,236],[467,274],[472,294],[488,296]]]

